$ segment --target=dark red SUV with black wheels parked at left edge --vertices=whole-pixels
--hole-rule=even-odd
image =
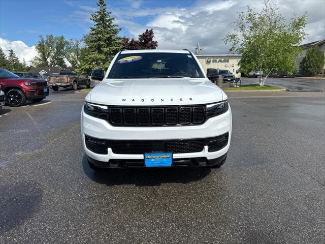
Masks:
[[[49,96],[46,80],[21,78],[2,68],[0,68],[0,86],[6,94],[7,104],[12,107],[24,105],[27,99],[40,102]]]

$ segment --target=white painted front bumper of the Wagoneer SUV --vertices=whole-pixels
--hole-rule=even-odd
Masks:
[[[223,156],[228,152],[231,133],[232,133],[232,115],[231,108],[225,113],[209,118],[204,124],[198,126],[162,126],[162,127],[114,127],[106,120],[92,117],[82,108],[81,113],[81,135],[85,153],[90,162],[98,167],[118,167],[116,165],[129,165],[130,162],[136,166],[143,167],[143,154],[114,154],[111,148],[107,148],[107,154],[96,154],[86,146],[85,136],[104,140],[179,140],[179,139],[196,139],[210,138],[229,133],[228,143],[218,151],[209,152],[208,145],[196,153],[173,154],[173,165],[185,164],[188,166],[211,165],[216,164],[213,161],[224,159]],[[198,161],[199,160],[199,161]],[[99,161],[100,163],[98,163]],[[187,161],[186,163],[184,163]],[[202,162],[201,162],[202,161]],[[211,161],[211,162],[210,162]],[[142,162],[142,165],[141,165]],[[200,165],[201,162],[201,165]],[[204,163],[205,162],[205,163]],[[110,166],[113,165],[113,166]]]

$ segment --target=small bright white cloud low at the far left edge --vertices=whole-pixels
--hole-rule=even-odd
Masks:
[[[30,60],[37,55],[35,46],[27,46],[22,41],[9,41],[3,38],[0,38],[0,46],[4,50],[5,54],[9,53],[9,50],[12,49],[17,54],[20,61],[24,58],[27,65],[30,64]]]

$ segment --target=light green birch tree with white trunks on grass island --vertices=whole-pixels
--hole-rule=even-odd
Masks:
[[[296,58],[301,53],[298,45],[304,40],[307,14],[294,15],[286,23],[275,4],[264,1],[262,11],[255,12],[247,6],[247,13],[239,13],[234,22],[234,32],[223,39],[231,43],[230,52],[242,55],[239,62],[242,72],[259,70],[266,75],[259,76],[259,85],[264,85],[269,74],[281,70],[292,74],[296,68]]]

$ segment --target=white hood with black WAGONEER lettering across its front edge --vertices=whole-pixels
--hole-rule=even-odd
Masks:
[[[192,105],[222,101],[221,89],[207,78],[104,79],[86,101],[106,105]]]

